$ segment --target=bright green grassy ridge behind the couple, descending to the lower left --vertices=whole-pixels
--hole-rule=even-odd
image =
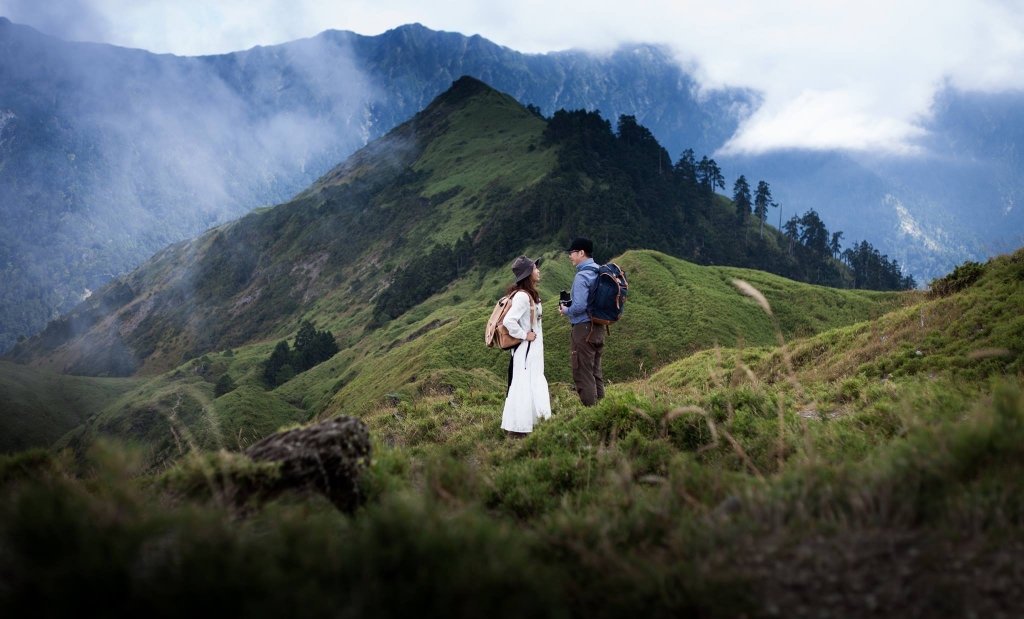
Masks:
[[[555,314],[558,290],[570,287],[574,270],[563,252],[543,264],[542,295],[546,373],[568,390],[568,323]],[[626,317],[611,327],[604,361],[609,383],[644,377],[674,360],[716,343],[770,345],[771,321],[730,283],[740,278],[765,291],[787,336],[818,333],[882,315],[907,302],[905,293],[822,288],[738,269],[699,266],[652,251],[615,258],[631,292]],[[365,414],[382,403],[412,402],[423,394],[458,389],[500,393],[508,357],[482,343],[494,301],[509,283],[506,270],[476,270],[385,327],[361,327],[366,313],[309,314],[346,342],[333,359],[267,390],[262,363],[274,342],[204,355],[170,372],[136,380],[117,398],[49,442],[27,443],[85,454],[100,437],[137,445],[148,466],[164,467],[189,449],[238,450],[282,426],[337,414]],[[25,371],[33,371],[26,369]],[[37,371],[38,372],[38,371]],[[238,388],[215,398],[214,384],[228,375]],[[78,377],[91,385],[109,379]],[[71,381],[69,381],[71,382]],[[13,406],[19,406],[12,400]],[[57,414],[56,409],[50,414]],[[81,426],[79,427],[79,425]],[[69,431],[73,430],[73,431]]]

